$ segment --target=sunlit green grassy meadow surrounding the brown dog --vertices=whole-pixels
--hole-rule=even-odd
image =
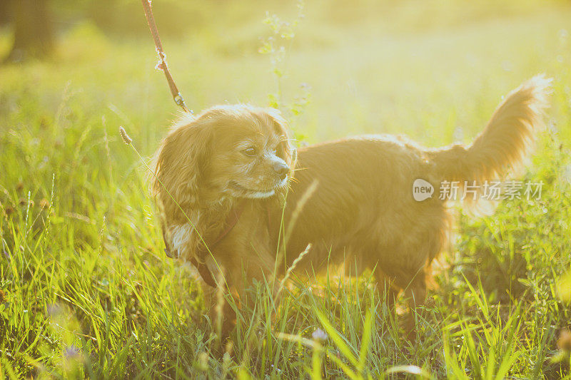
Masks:
[[[355,133],[468,142],[511,88],[555,78],[550,130],[521,175],[544,183],[541,200],[505,201],[490,217],[458,210],[415,342],[368,276],[312,287],[294,276],[277,314],[256,284],[256,309],[241,314],[233,347],[221,346],[196,273],[162,252],[148,173],[118,136],[123,125],[150,157],[176,115],[151,38],[80,24],[50,61],[1,66],[0,378],[568,376],[556,342],[571,317],[571,9],[506,4],[345,14],[315,2],[283,63],[284,110],[308,143]],[[256,52],[265,9],[251,9],[227,31],[163,41],[195,111],[276,94],[270,58]],[[0,53],[8,48],[4,31]],[[310,103],[293,115],[301,83]],[[313,339],[316,329],[328,339]]]

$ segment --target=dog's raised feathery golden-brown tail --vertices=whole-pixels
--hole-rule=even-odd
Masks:
[[[440,180],[500,180],[522,163],[544,126],[552,80],[534,76],[500,103],[486,127],[471,145],[451,145],[428,152]]]

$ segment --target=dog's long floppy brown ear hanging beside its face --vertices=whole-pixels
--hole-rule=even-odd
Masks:
[[[171,130],[156,157],[153,193],[162,212],[168,215],[168,225],[188,222],[181,208],[188,210],[188,206],[200,202],[204,172],[211,156],[211,125],[200,120],[186,121]]]

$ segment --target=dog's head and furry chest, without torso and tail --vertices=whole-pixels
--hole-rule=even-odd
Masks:
[[[157,152],[153,181],[169,254],[207,265],[215,279],[222,270],[234,290],[240,269],[261,279],[273,269],[266,210],[281,208],[294,161],[287,123],[273,108],[183,115]],[[210,249],[238,206],[240,220]]]

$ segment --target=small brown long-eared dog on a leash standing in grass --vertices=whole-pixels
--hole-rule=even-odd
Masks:
[[[413,304],[423,302],[450,224],[440,184],[500,180],[520,164],[542,126],[549,88],[543,76],[523,83],[468,146],[425,149],[361,136],[302,148],[296,164],[273,109],[186,115],[158,150],[153,184],[167,248],[239,297],[243,277],[275,278],[312,243],[296,270],[348,262],[352,273],[374,269],[378,289],[393,296],[405,289]],[[433,185],[433,197],[413,199],[419,178]]]

